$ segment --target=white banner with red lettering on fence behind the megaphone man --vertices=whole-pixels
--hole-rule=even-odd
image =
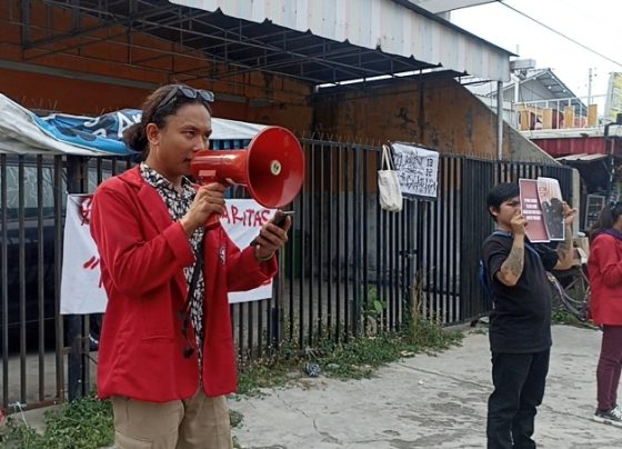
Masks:
[[[101,285],[99,252],[89,221],[92,194],[69,194],[64,222],[64,248],[60,289],[62,315],[103,313],[108,302]],[[254,200],[227,200],[221,223],[239,248],[247,248],[275,210]],[[249,291],[229,293],[229,302],[254,301],[272,296],[272,280]]]

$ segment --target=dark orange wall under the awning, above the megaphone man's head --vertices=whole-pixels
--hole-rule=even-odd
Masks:
[[[197,50],[136,31],[129,47],[127,29],[122,27],[103,28],[87,38],[68,38],[26,48],[21,20],[19,0],[0,2],[0,62],[27,64],[26,70],[0,67],[0,92],[28,108],[93,116],[120,108],[139,108],[156,87],[185,82],[213,90],[217,100],[219,94],[238,98],[237,101],[217,101],[217,117],[281,124],[298,131],[311,127],[312,110],[308,104],[311,87],[308,84],[260,72],[209,81],[208,73],[222,74],[227,68],[212,66]],[[101,24],[86,16],[80,21],[82,28]],[[52,36],[69,32],[71,16],[64,9],[32,0],[30,23],[30,41],[36,42],[49,38],[44,28],[51,29],[48,32]],[[174,56],[163,53],[164,50],[174,51]],[[89,77],[108,77],[141,86],[84,79]],[[254,107],[258,99],[265,106]]]

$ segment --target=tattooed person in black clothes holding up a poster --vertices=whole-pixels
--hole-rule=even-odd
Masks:
[[[486,198],[496,231],[482,243],[482,260],[494,298],[490,349],[494,390],[488,402],[489,449],[535,448],[536,407],[542,403],[551,348],[551,289],[546,270],[572,265],[572,232],[556,251],[532,245],[514,183],[494,187]],[[570,227],[576,211],[564,204]]]

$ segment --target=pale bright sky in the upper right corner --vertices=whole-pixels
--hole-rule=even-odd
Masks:
[[[598,51],[596,56],[531,21],[510,6]],[[451,21],[520,59],[550,68],[578,97],[606,94],[610,72],[622,72],[622,0],[504,0],[451,12]],[[613,60],[613,61],[611,61]],[[596,102],[598,98],[594,98]]]

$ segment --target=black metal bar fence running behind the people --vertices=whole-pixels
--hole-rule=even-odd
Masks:
[[[438,198],[405,200],[400,213],[377,197],[378,148],[302,139],[307,176],[292,208],[271,299],[231,306],[241,361],[282,341],[300,348],[399,330],[414,303],[443,325],[488,311],[478,281],[480,243],[492,231],[485,193],[499,181],[549,176],[571,198],[571,170],[442,156]],[[130,162],[0,154],[1,408],[14,411],[78,397],[92,387],[92,317],[60,317],[67,192],[92,192]],[[240,191],[242,190],[242,191]],[[233,189],[233,196],[243,196]],[[83,337],[86,336],[86,337]]]

